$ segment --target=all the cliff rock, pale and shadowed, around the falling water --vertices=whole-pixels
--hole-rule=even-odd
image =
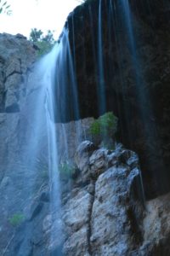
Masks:
[[[98,1],[88,3],[68,18],[82,117],[97,116],[99,104],[94,61],[99,4]],[[127,43],[120,2],[114,2],[117,12],[112,22],[116,22],[116,26],[110,23],[111,16],[108,16],[113,2],[101,3],[107,110],[113,110],[119,117],[119,137],[126,148],[135,148],[139,152],[147,198],[156,197],[168,190],[161,189],[163,176],[160,170],[167,178],[169,2],[160,5],[150,1],[151,10],[148,10],[144,1],[140,4],[133,1],[138,70],[132,60],[132,48]],[[91,12],[92,16],[89,15]],[[108,37],[109,30],[116,33],[116,38]],[[54,218],[51,211],[54,201],[50,195],[52,183],[46,162],[37,159],[36,172],[32,172],[30,163],[22,165],[27,155],[21,162],[18,157],[25,144],[32,143],[27,127],[31,127],[35,119],[34,102],[41,80],[38,74],[32,73],[33,67],[36,70],[36,65],[31,66],[35,61],[35,49],[20,35],[3,34],[0,42],[0,253],[6,256],[56,256],[62,253],[68,256],[169,255],[170,195],[144,201],[137,154],[121,144],[115,150],[108,150],[85,141],[77,148],[77,124],[74,122],[65,124],[65,131],[71,140],[69,154],[76,172],[69,177],[65,174],[60,177],[62,218]],[[136,87],[137,74],[142,90]],[[36,88],[34,84],[37,84]],[[144,102],[139,93],[145,96],[142,97]],[[82,121],[82,132],[89,122],[88,119]],[[47,131],[43,125],[41,131],[44,133],[37,142],[40,154],[46,154],[48,148]],[[64,150],[62,128],[62,125],[56,127],[61,133],[61,156]],[[33,158],[33,152],[31,154]],[[58,230],[62,230],[61,234]]]

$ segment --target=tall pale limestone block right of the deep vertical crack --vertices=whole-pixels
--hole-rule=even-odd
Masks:
[[[135,175],[138,177],[139,172]],[[131,178],[134,177],[127,167],[118,166],[108,169],[96,181],[90,238],[93,255],[126,255],[133,247],[131,236],[135,234],[130,234],[127,213]]]

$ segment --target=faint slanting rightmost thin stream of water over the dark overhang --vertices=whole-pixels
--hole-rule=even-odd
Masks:
[[[164,162],[162,160],[162,155],[160,153],[159,148],[161,148],[161,143],[159,137],[157,135],[155,123],[153,123],[153,119],[155,119],[155,115],[153,113],[152,105],[150,102],[150,94],[147,88],[147,84],[144,80],[144,76],[141,73],[141,61],[139,58],[139,52],[137,48],[137,42],[135,38],[135,33],[133,31],[133,16],[130,9],[130,5],[128,0],[122,0],[122,11],[124,14],[124,22],[125,27],[127,29],[127,40],[129,44],[129,48],[131,50],[131,59],[133,63],[134,69],[134,80],[135,80],[135,89],[137,95],[137,101],[139,102],[139,112],[141,115],[141,119],[143,120],[143,129],[144,129],[144,136],[145,136],[145,150],[148,151],[149,155],[155,155],[156,152],[160,159],[159,166],[154,167],[154,173],[152,175],[156,177],[157,181],[161,181],[161,183],[157,182],[157,189],[160,191],[165,191],[168,189],[168,182],[167,182],[167,174],[164,166]],[[148,9],[150,11],[150,5],[148,3]],[[155,147],[150,147],[150,141],[155,142]],[[152,160],[148,157],[148,165],[150,169],[153,168]],[[144,189],[143,189],[144,190]]]

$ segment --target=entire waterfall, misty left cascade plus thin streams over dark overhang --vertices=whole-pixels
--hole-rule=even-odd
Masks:
[[[144,60],[141,61],[143,53],[139,52],[140,49],[145,50],[145,48],[139,45],[138,33],[136,33],[138,26],[143,24],[138,25],[133,22],[138,20],[133,17],[132,8],[128,0],[85,1],[68,17],[54,49],[34,64],[23,82],[25,84],[22,84],[26,90],[20,102],[20,113],[17,113],[19,116],[16,125],[17,134],[12,134],[16,137],[18,148],[14,154],[8,154],[7,166],[5,166],[5,175],[11,179],[9,180],[11,185],[9,183],[5,194],[8,206],[4,209],[10,212],[10,216],[5,216],[6,222],[8,224],[8,219],[15,212],[22,212],[26,220],[23,226],[20,225],[19,231],[16,231],[17,242],[13,241],[14,244],[11,242],[13,247],[11,251],[14,255],[25,255],[26,245],[30,241],[33,249],[26,252],[26,255],[62,255],[63,244],[66,244],[68,239],[67,234],[65,235],[66,228],[70,229],[71,226],[71,223],[65,224],[65,219],[68,221],[70,218],[67,203],[81,186],[83,193],[94,198],[91,201],[96,200],[94,183],[97,177],[95,173],[91,173],[95,167],[94,156],[91,157],[90,152],[84,164],[87,164],[90,172],[89,180],[85,182],[81,179],[82,173],[77,169],[78,165],[76,166],[74,161],[76,148],[82,140],[92,140],[95,144],[93,147],[99,149],[101,153],[106,148],[104,150],[109,156],[104,169],[110,165],[117,166],[116,161],[118,165],[122,164],[122,168],[126,167],[128,170],[130,170],[129,166],[134,165],[133,162],[127,163],[124,159],[127,157],[124,148],[122,149],[124,155],[120,151],[120,155],[117,153],[115,160],[111,161],[111,157],[115,154],[112,147],[116,140],[115,133],[108,135],[103,129],[101,134],[102,125],[98,119],[97,129],[94,129],[97,130],[97,136],[93,134],[89,129],[89,123],[95,124],[95,122],[94,118],[89,118],[90,116],[99,117],[106,112],[116,114],[119,119],[117,141],[121,141],[126,148],[139,149],[137,152],[142,155],[141,162],[146,169],[139,171],[136,189],[143,203],[145,203],[143,179],[144,175],[145,177],[148,175],[151,167],[150,172],[154,171],[152,175],[156,177],[160,187],[168,183],[166,177],[162,177],[164,160],[159,150],[161,143],[158,136],[161,131],[156,130],[150,99],[152,90],[149,88],[150,79],[146,81],[144,77],[146,74],[142,69]],[[150,49],[147,50],[153,57],[152,45],[149,47]],[[146,55],[144,57],[147,58]],[[152,63],[151,57],[148,59],[149,63]],[[156,93],[155,90],[153,92]],[[81,120],[82,117],[88,117],[88,121]],[[105,119],[103,122],[105,123]],[[13,125],[13,122],[10,120],[8,124]],[[113,123],[110,128],[113,128]],[[9,147],[10,144],[8,151],[10,151]],[[120,146],[117,143],[114,148],[119,147],[122,147],[122,144]],[[101,148],[103,149],[100,150]],[[131,160],[135,159],[132,157]],[[139,170],[139,166],[137,167]],[[95,168],[97,170],[98,167]],[[14,172],[15,170],[17,172]],[[71,175],[71,172],[76,174]],[[83,172],[86,172],[86,168]],[[76,177],[75,183],[74,177]],[[146,183],[147,181],[146,179]],[[75,186],[73,190],[71,190],[72,185]],[[6,201],[5,196],[3,203]],[[99,199],[99,204],[102,201],[100,202]],[[91,205],[88,211],[89,227],[95,220],[90,216],[93,207],[95,206]],[[68,213],[66,218],[62,216],[62,211]],[[77,218],[77,214],[72,216],[71,218]],[[108,217],[110,218],[110,215]],[[76,233],[80,227],[77,224],[75,226],[72,225],[71,228],[75,228]],[[90,236],[94,231],[89,227],[90,243]],[[37,230],[39,234],[36,233]],[[95,243],[95,236],[93,239],[92,244]],[[66,246],[67,244],[64,247]]]

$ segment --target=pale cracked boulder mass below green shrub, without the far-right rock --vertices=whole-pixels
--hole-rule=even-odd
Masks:
[[[127,255],[141,240],[144,210],[135,154],[122,146],[115,151],[95,150],[85,141],[77,148],[76,162],[82,181],[88,184],[82,182],[81,188],[79,183],[64,206],[64,255],[84,255],[85,251],[93,256]]]

